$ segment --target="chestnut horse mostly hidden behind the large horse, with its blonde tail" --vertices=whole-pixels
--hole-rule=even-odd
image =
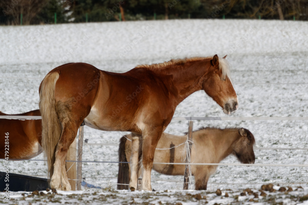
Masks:
[[[40,116],[39,110],[32,110],[17,116]],[[0,112],[0,116],[12,116]],[[14,120],[0,119],[0,159],[9,156],[9,159],[28,160],[42,153],[42,120]],[[4,133],[9,133],[9,144],[5,147]],[[76,142],[67,152],[67,160],[76,160]],[[8,151],[8,155],[5,155]],[[67,162],[67,176],[70,179],[76,179],[77,171],[74,163]],[[69,180],[72,190],[76,190],[76,182]]]

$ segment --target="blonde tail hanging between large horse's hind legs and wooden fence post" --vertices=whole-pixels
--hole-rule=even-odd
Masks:
[[[67,151],[66,160],[76,161],[76,159],[77,159],[77,150],[76,150],[76,139],[75,139]],[[71,184],[72,191],[76,191],[76,180],[74,180],[77,179],[76,162],[66,162],[66,173],[68,181]]]

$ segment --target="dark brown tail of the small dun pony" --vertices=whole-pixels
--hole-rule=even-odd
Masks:
[[[121,137],[120,145],[119,145],[119,162],[127,162],[126,155],[125,155],[125,144],[126,144],[126,137]],[[119,173],[118,173],[118,185],[117,189],[128,189],[129,183],[129,167],[127,163],[119,163]]]

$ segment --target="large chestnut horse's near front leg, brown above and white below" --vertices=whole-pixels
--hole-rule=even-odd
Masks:
[[[145,191],[152,191],[151,186],[151,171],[153,168],[154,152],[160,136],[162,128],[158,131],[152,131],[148,134],[143,134],[142,143],[142,183],[141,189]]]

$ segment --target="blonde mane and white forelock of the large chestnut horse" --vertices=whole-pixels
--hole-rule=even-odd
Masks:
[[[171,59],[170,61],[165,61],[163,63],[152,63],[151,65],[137,65],[135,68],[146,68],[146,69],[163,69],[170,65],[180,65],[187,62],[192,61],[201,61],[201,60],[208,60],[212,59],[213,57],[191,57],[191,58],[177,58],[177,59]],[[222,71],[222,79],[225,79],[226,77],[230,78],[230,64],[225,58],[219,58],[219,69]]]

